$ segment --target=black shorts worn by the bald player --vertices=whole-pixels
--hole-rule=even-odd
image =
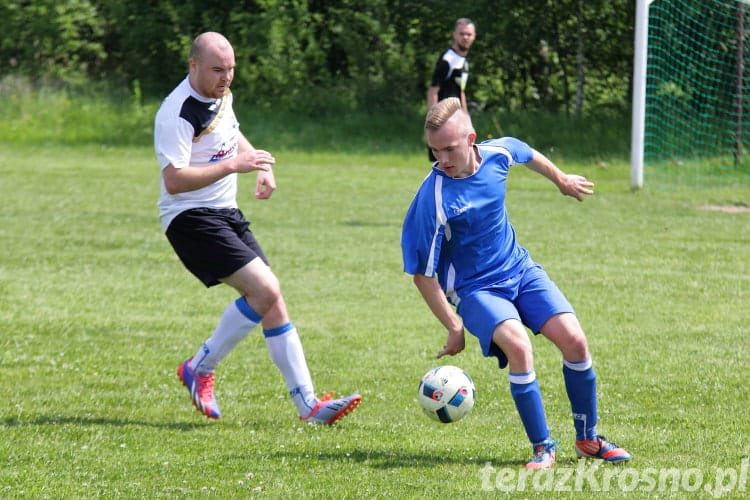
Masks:
[[[188,271],[207,287],[256,257],[268,264],[238,208],[186,210],[172,220],[166,236]]]

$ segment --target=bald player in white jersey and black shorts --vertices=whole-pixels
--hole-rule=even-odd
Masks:
[[[255,149],[240,132],[229,87],[235,59],[223,35],[193,41],[189,74],[164,100],[154,123],[161,167],[160,219],[185,267],[207,287],[225,283],[240,297],[230,303],[210,338],[177,369],[196,409],[221,411],[215,368],[252,329],[262,325],[271,359],[281,371],[300,419],[332,424],[359,405],[352,394],[316,397],[297,329],[279,281],[236,201],[237,174],[257,172],[255,196],[276,188],[273,155]]]

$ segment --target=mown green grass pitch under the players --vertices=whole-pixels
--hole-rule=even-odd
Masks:
[[[272,149],[268,146],[269,149]],[[221,366],[224,417],[190,405],[175,368],[211,332],[205,290],[157,221],[149,147],[0,148],[0,496],[4,498],[742,498],[750,454],[750,187],[631,193],[624,164],[579,204],[519,168],[520,241],[576,306],[599,376],[600,431],[628,467],[579,465],[559,355],[534,340],[561,454],[530,447],[507,373],[476,341],[446,363],[477,385],[452,425],[416,404],[444,332],[401,272],[419,154],[275,151],[279,190],[241,206],[282,280],[318,392],[360,391],[334,427],[300,423],[258,332]],[[585,462],[581,462],[584,464]]]

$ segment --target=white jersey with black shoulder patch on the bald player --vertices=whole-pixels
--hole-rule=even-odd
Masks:
[[[186,77],[162,103],[154,121],[154,149],[163,170],[208,166],[237,155],[240,126],[232,94],[220,99],[201,96]],[[237,174],[206,187],[169,194],[161,179],[159,219],[164,231],[179,213],[191,208],[237,208]]]

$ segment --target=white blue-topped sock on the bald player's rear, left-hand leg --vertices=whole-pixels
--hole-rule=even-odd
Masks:
[[[235,300],[224,310],[211,338],[193,356],[190,367],[198,373],[208,373],[227,357],[250,331],[258,326],[261,317],[245,301],[244,297]]]

